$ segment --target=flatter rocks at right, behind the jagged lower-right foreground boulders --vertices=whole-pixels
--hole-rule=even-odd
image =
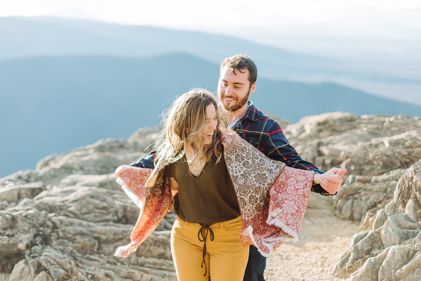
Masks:
[[[289,125],[285,134],[301,157],[320,169],[348,170],[334,199],[335,214],[361,222],[361,230],[392,200],[405,169],[421,158],[417,117],[325,113]]]

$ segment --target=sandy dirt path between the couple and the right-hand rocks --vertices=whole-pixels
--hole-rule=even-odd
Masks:
[[[330,197],[312,193],[297,243],[280,246],[266,262],[266,281],[343,281],[330,275],[332,265],[347,248],[358,224],[338,219]]]

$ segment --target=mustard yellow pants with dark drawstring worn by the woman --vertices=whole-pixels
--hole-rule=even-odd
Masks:
[[[209,228],[211,231],[202,225],[184,222],[179,217],[174,222],[171,253],[178,280],[209,281],[210,276],[212,281],[242,281],[249,249],[242,247],[238,237],[242,230],[241,217],[210,225]],[[203,235],[200,235],[200,230]],[[201,267],[205,236],[205,264]]]

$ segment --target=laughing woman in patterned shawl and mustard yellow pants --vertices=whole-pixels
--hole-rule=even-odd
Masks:
[[[193,89],[176,99],[165,117],[155,169],[117,169],[117,181],[142,211],[132,243],[116,255],[136,249],[171,203],[177,213],[171,252],[179,281],[209,276],[240,281],[248,245],[267,256],[297,240],[313,177],[318,182],[320,175],[266,158],[227,131],[222,118],[213,95]]]

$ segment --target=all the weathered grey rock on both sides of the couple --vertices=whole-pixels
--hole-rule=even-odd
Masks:
[[[143,128],[128,140],[100,140],[0,179],[0,271],[11,281],[176,280],[173,213],[130,257],[112,255],[129,243],[139,215],[113,172],[145,155],[158,132]],[[362,231],[332,273],[353,281],[419,280],[421,120],[333,112],[284,132],[320,169],[349,171],[333,211],[361,221]]]

